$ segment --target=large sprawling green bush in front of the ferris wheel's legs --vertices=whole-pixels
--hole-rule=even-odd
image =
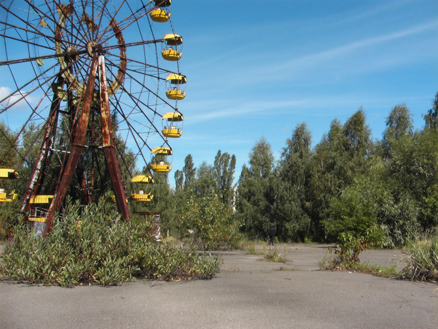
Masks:
[[[1,254],[0,273],[14,280],[59,284],[115,285],[134,277],[176,280],[209,279],[219,272],[219,256],[199,255],[159,244],[147,224],[118,220],[110,205],[68,204],[64,218],[45,238],[25,225]]]

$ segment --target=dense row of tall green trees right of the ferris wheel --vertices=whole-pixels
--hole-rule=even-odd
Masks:
[[[404,104],[386,118],[373,141],[362,108],[344,124],[334,119],[311,148],[300,123],[274,163],[271,146],[257,141],[238,183],[237,217],[252,238],[269,222],[283,241],[335,241],[373,229],[390,246],[403,245],[438,225],[438,93],[414,131]]]

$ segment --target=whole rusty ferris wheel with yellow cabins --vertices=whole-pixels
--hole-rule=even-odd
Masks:
[[[133,182],[171,170],[168,141],[182,134],[177,102],[187,79],[170,8],[171,0],[0,2],[0,137],[7,141],[0,167],[28,170],[21,211],[44,219],[44,235],[73,184],[89,202],[97,177],[106,176],[128,219],[121,167]],[[12,138],[4,127],[14,127]],[[11,154],[19,159],[13,164]],[[134,164],[149,173],[132,177]],[[46,213],[31,215],[39,202]]]

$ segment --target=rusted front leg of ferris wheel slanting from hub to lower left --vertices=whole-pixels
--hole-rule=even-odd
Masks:
[[[85,134],[87,133],[90,106],[93,100],[94,82],[96,80],[96,71],[98,66],[97,58],[98,54],[97,52],[94,52],[91,61],[87,88],[85,90],[85,94],[82,100],[82,111],[78,119],[76,136],[74,138],[74,143],[71,147],[70,155],[68,156],[67,164],[65,166],[61,182],[56,188],[54,198],[52,199],[52,202],[50,203],[48,209],[46,225],[43,233],[44,236],[47,236],[52,229],[53,218],[55,216],[55,213],[58,212],[61,208],[61,204],[66,196],[68,186],[71,183],[71,179],[73,178],[76,166],[81,157],[82,150],[84,149]]]

